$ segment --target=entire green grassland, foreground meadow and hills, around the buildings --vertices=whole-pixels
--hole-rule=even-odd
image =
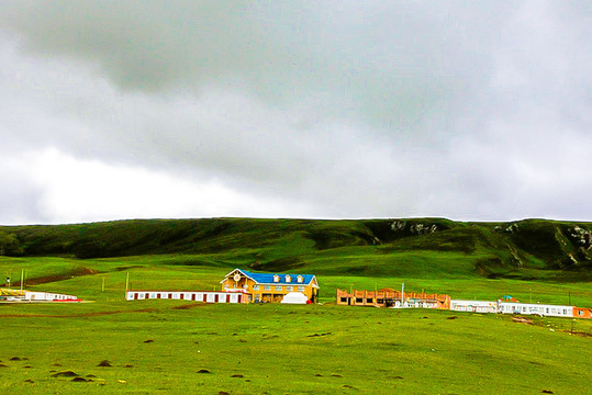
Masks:
[[[0,257],[0,274],[19,284],[24,269],[27,289],[92,301],[0,305],[0,388],[590,393],[590,320],[538,318],[525,325],[509,316],[334,304],[337,287],[405,282],[409,290],[456,298],[511,294],[592,307],[588,252],[570,236],[574,226],[588,224],[530,221],[506,230],[512,224],[417,219],[393,232],[392,223],[210,219],[0,228],[15,235],[21,248]],[[438,230],[414,234],[417,224]],[[323,304],[123,300],[127,273],[134,289],[213,290],[236,267],[314,273]],[[111,366],[98,366],[104,360]]]

